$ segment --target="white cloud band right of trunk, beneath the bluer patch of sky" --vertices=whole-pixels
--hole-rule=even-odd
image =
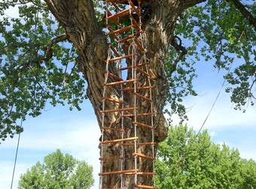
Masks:
[[[205,121],[212,104],[215,101],[216,95],[207,94],[203,97],[189,98],[189,101],[185,101],[186,107],[191,107],[187,115],[189,121],[187,124],[190,127],[199,129]],[[213,127],[233,127],[234,125],[240,125],[241,127],[254,127],[254,116],[256,110],[253,107],[248,107],[245,113],[239,110],[233,110],[230,100],[227,94],[222,93],[218,98],[215,107],[212,109],[212,113],[209,114],[204,128]],[[177,116],[174,118],[174,124],[178,123]]]

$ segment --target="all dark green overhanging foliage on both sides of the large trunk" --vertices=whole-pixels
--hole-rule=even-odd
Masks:
[[[104,5],[102,1],[93,3],[104,31]],[[253,1],[242,3],[256,15]],[[8,10],[19,14],[10,17]],[[0,138],[4,140],[23,131],[17,121],[40,115],[46,104],[69,104],[71,110],[80,110],[79,104],[87,96],[77,52],[44,1],[2,1],[0,14]],[[120,23],[125,26],[130,19]],[[195,64],[200,61],[215,62],[218,70],[229,70],[232,65],[225,76],[230,83],[226,89],[230,101],[238,110],[245,110],[248,103],[254,105],[255,28],[230,1],[208,0],[184,10],[174,35],[187,54],[169,46],[165,68],[170,93],[166,104],[171,110],[166,113],[178,113],[181,121],[187,118],[182,101],[187,95],[197,95],[193,80],[197,77]],[[235,59],[239,65],[234,65]]]

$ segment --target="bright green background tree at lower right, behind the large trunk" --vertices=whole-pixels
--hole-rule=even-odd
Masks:
[[[256,163],[243,160],[237,149],[211,142],[207,130],[170,127],[158,148],[158,188],[254,188]]]

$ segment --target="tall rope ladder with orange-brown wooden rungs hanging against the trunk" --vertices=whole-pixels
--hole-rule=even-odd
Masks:
[[[105,26],[108,37],[108,58],[105,62],[105,81],[102,94],[102,136],[99,142],[100,180],[99,189],[105,176],[120,175],[120,188],[126,188],[126,177],[133,177],[133,188],[157,188],[155,186],[154,161],[154,101],[153,86],[148,71],[148,58],[142,43],[142,0],[105,0]],[[124,20],[126,24],[124,24]],[[127,24],[127,20],[129,21]],[[128,103],[129,101],[129,103]],[[129,104],[133,106],[129,107]],[[144,110],[142,104],[149,107]],[[133,124],[133,136],[127,122]],[[113,126],[114,125],[114,126]],[[142,131],[150,134],[148,141],[142,139]],[[111,139],[111,134],[115,138]],[[109,157],[106,149],[117,145],[120,154]],[[144,146],[142,150],[142,146]],[[150,150],[145,154],[146,150]],[[126,165],[126,153],[133,156],[133,167]],[[152,172],[144,172],[139,162],[150,161]],[[107,171],[106,164],[117,163],[118,170]],[[151,185],[142,183],[142,177],[153,177]],[[106,188],[105,188],[106,189]]]

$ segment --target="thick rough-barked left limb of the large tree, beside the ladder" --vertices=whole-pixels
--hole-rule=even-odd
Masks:
[[[108,43],[96,20],[93,0],[44,0],[78,50],[78,65],[87,80],[87,96],[100,119]]]

